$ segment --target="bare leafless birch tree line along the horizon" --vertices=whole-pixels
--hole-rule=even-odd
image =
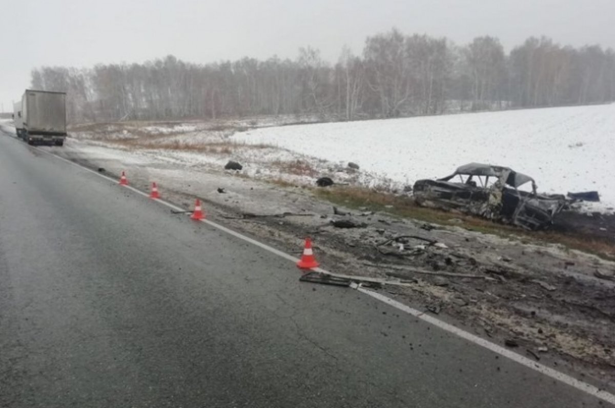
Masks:
[[[509,53],[495,37],[455,45],[397,29],[344,47],[335,64],[295,60],[205,65],[168,56],[143,64],[33,69],[31,87],[68,93],[73,122],[311,114],[322,119],[434,115],[615,100],[615,52],[530,37]]]

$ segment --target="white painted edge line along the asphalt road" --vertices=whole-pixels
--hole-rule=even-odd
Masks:
[[[80,165],[79,163],[75,163],[75,162],[71,162],[71,160],[65,159],[64,157],[61,157],[57,154],[54,154],[52,152],[48,152],[45,151],[43,149],[41,149],[40,147],[34,147],[35,149],[38,149],[41,152],[44,152],[46,154],[52,155],[54,157],[57,157],[58,159],[64,160],[66,163],[70,163],[71,165],[74,165],[76,167],[79,167],[83,170],[87,170],[90,173],[93,173],[97,176],[100,176],[108,181],[112,181],[115,184],[118,184],[118,181],[116,179],[113,179],[109,176],[105,176],[105,175],[101,175],[100,173],[98,173],[97,171],[94,171],[90,168],[87,168],[85,166]],[[141,190],[136,189],[135,187],[132,186],[121,186],[124,188],[127,188],[129,190],[132,190],[133,192],[143,195],[143,197],[149,197],[149,194],[147,194],[146,192],[143,192]],[[173,210],[176,211],[186,211],[184,208],[178,207],[177,205],[174,205],[172,203],[169,203],[165,200],[162,199],[158,199],[156,200],[159,203],[162,203],[164,205],[166,205],[169,208],[172,208]],[[216,222],[213,221],[209,221],[208,219],[202,219],[200,220],[200,222],[204,222],[205,224],[208,224],[216,229],[219,229],[223,232],[226,232],[230,235],[232,235],[233,237],[237,237],[240,238],[241,240],[244,240],[248,243],[251,243],[252,245],[256,245],[259,248],[265,249],[266,251],[269,251],[273,254],[276,254],[277,256],[280,256],[284,259],[287,259],[288,261],[292,261],[292,262],[298,262],[299,259],[288,255],[287,253],[284,253],[282,251],[280,251],[279,249],[273,248],[272,246],[269,246],[267,244],[264,244],[260,241],[256,241],[253,240],[250,237],[246,237],[245,235],[236,232],[234,230],[228,229],[224,226],[221,226],[220,224],[217,224]],[[331,273],[328,272],[325,269],[322,268],[315,268],[314,269],[317,272],[323,272],[323,273]],[[336,275],[335,273],[331,273],[332,275]],[[371,296],[374,299],[378,299],[381,302],[386,303],[387,305],[391,305],[392,307],[395,307],[399,310],[401,310],[402,312],[408,313],[411,316],[415,316],[416,318],[419,318],[423,321],[425,321],[426,323],[430,323],[433,324],[434,326],[436,326],[437,328],[440,328],[442,330],[445,330],[447,332],[450,332],[454,335],[457,335],[458,337],[461,337],[462,339],[465,339],[469,342],[472,342],[476,345],[479,345],[480,347],[486,348],[487,350],[491,350],[494,353],[498,353],[501,356],[504,356],[506,358],[511,359],[512,361],[515,361],[518,364],[521,364],[522,366],[528,367],[534,371],[538,371],[541,374],[546,375],[547,377],[550,377],[552,379],[558,380],[560,382],[563,382],[569,386],[572,386],[574,388],[576,388],[579,391],[583,391],[584,393],[590,394],[591,396],[595,396],[596,398],[600,398],[603,399],[606,402],[609,402],[613,405],[615,405],[615,394],[611,394],[608,393],[607,391],[604,390],[600,390],[597,386],[582,382],[580,380],[575,379],[574,377],[571,377],[568,374],[564,374],[563,372],[559,372],[557,370],[554,370],[550,367],[544,366],[543,364],[539,364],[536,363],[536,361],[533,361],[529,358],[526,358],[522,355],[519,355],[517,353],[515,353],[514,351],[510,351],[507,348],[501,347],[500,345],[497,345],[496,343],[492,343],[488,340],[483,339],[482,337],[478,337],[477,335],[471,334],[467,331],[464,331],[462,329],[459,329],[455,326],[453,326],[452,324],[448,324],[445,321],[439,320],[437,318],[435,318],[434,316],[431,315],[427,315],[423,312],[420,312],[419,310],[413,309],[407,305],[404,305],[400,302],[397,302],[397,300],[391,299],[390,297],[384,296],[383,294],[380,294],[378,292],[374,292],[374,291],[369,291],[365,288],[362,288],[359,284],[351,284],[351,288],[356,289],[359,292],[362,292],[363,294],[366,294],[367,296]]]

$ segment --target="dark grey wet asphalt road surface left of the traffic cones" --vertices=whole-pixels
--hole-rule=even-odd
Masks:
[[[285,259],[0,133],[1,407],[599,404],[298,277]]]

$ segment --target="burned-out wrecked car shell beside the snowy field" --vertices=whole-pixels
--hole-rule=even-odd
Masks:
[[[531,183],[531,191],[519,187]],[[563,195],[536,192],[530,176],[507,167],[469,163],[452,175],[415,183],[418,205],[474,214],[529,230],[546,229],[566,205]]]

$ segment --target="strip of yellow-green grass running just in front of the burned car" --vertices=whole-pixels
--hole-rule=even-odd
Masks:
[[[367,206],[372,211],[382,211],[401,218],[432,222],[442,226],[457,226],[481,233],[490,233],[502,238],[514,238],[523,243],[563,245],[594,254],[607,261],[615,261],[615,245],[601,238],[588,238],[557,231],[527,231],[514,226],[496,224],[458,211],[442,211],[415,204],[410,197],[400,197],[363,187],[313,188],[316,197],[333,204],[357,209]]]

